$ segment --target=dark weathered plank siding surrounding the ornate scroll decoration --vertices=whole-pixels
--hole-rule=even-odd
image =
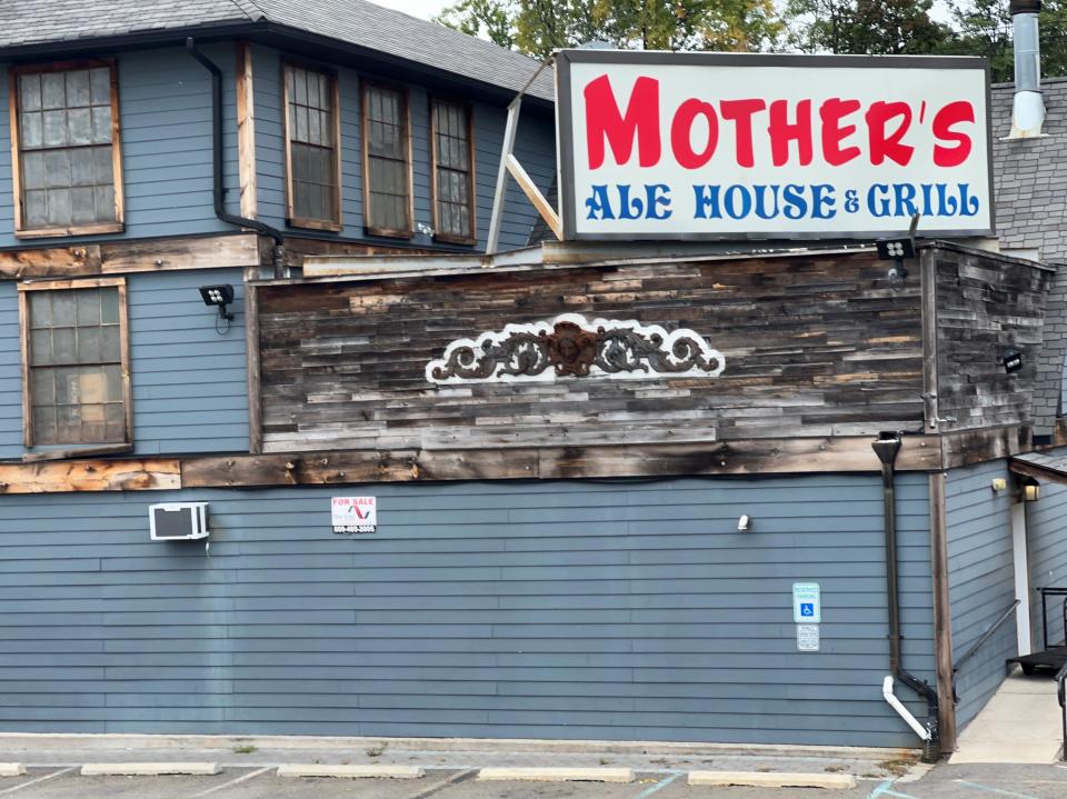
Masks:
[[[268,450],[874,435],[923,425],[917,278],[872,253],[261,290]],[[564,312],[691,328],[718,378],[435,386],[446,346]]]

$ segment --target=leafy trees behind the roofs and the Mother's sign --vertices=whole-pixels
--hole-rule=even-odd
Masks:
[[[457,0],[438,21],[544,58],[604,41],[646,50],[955,54],[1011,80],[1008,0]],[[777,10],[776,10],[777,9]],[[1041,73],[1067,74],[1067,0],[1045,0]]]

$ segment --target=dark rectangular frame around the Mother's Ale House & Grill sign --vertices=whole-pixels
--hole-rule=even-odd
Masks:
[[[805,56],[799,53],[708,53],[627,50],[560,50],[556,54],[556,142],[558,158],[559,218],[564,241],[855,241],[884,239],[891,232],[880,231],[709,231],[662,234],[656,232],[579,233],[575,219],[575,141],[571,137],[574,117],[571,104],[571,64],[684,64],[709,67],[789,67],[789,68],[849,68],[849,69],[981,69],[985,73],[986,103],[986,172],[988,178],[989,227],[960,230],[923,230],[924,239],[957,239],[996,234],[997,208],[994,193],[993,162],[993,89],[989,61],[974,56]],[[906,224],[900,232],[906,231]]]

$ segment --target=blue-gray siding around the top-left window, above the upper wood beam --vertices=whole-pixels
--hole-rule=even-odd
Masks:
[[[228,208],[239,210],[232,43],[203,51],[223,73],[223,173]],[[122,53],[119,106],[126,230],[109,239],[231,230],[215,217],[211,196],[211,79],[180,48]],[[16,247],[7,68],[0,68],[0,247]],[[71,239],[49,238],[51,246]],[[34,246],[41,242],[36,241]],[[23,243],[24,246],[24,243]]]

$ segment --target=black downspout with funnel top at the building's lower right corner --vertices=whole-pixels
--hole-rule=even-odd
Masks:
[[[938,729],[937,691],[925,680],[908,673],[900,662],[900,585],[897,569],[897,493],[895,466],[900,451],[900,436],[896,432],[882,432],[871,446],[881,461],[881,496],[886,531],[886,593],[889,607],[889,670],[894,679],[899,680],[926,700],[926,729],[930,737],[923,747],[923,761],[937,762],[941,755],[940,731]]]

